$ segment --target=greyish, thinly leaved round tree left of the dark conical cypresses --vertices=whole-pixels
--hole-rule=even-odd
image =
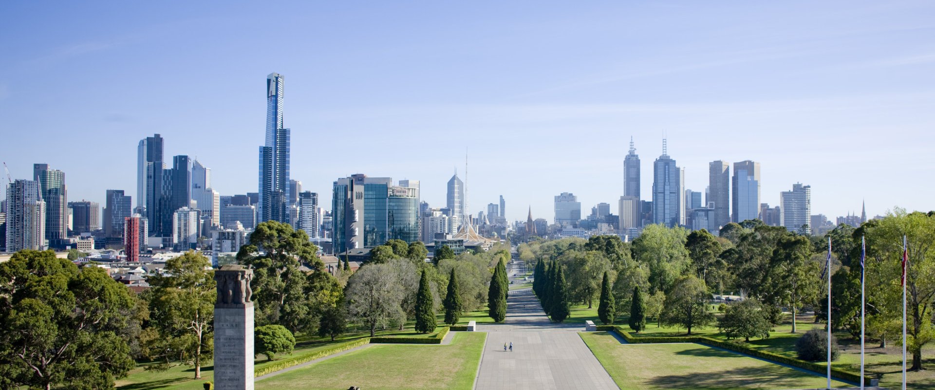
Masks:
[[[389,325],[400,317],[405,321],[406,312],[400,306],[405,293],[394,273],[389,265],[371,264],[358,269],[348,280],[348,313],[367,325],[370,337],[374,337],[377,326]]]

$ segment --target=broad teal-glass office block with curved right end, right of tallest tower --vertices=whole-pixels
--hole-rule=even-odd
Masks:
[[[419,202],[415,189],[393,185],[391,178],[354,174],[334,182],[332,243],[335,253],[372,248],[390,239],[419,239]]]

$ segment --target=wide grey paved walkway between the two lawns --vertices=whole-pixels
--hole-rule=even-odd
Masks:
[[[504,324],[485,324],[478,390],[619,390],[578,336],[582,325],[552,324],[531,290],[514,290]],[[503,352],[503,343],[513,352]]]

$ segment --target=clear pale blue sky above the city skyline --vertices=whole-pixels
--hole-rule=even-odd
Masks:
[[[328,209],[353,173],[443,207],[467,150],[474,213],[504,195],[552,221],[562,192],[616,213],[629,137],[648,199],[664,134],[692,190],[750,159],[771,205],[800,181],[832,219],[935,209],[931,1],[5,1],[0,160],[64,170],[70,200],[136,197],[159,133],[255,192],[270,72],[293,179]]]

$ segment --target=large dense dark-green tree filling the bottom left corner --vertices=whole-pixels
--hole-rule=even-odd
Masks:
[[[138,303],[101,268],[14,253],[0,263],[0,387],[113,388],[136,365],[124,331]]]

